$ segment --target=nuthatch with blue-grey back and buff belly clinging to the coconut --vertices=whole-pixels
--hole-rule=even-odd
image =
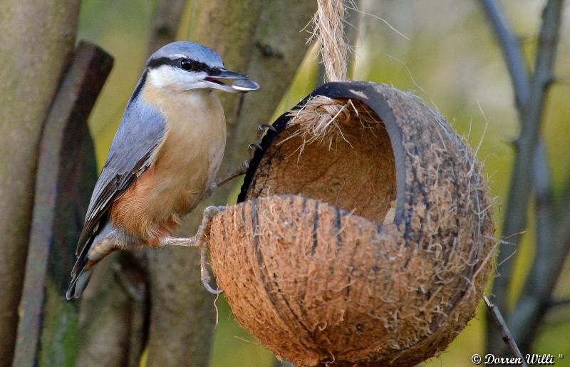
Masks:
[[[224,83],[228,80],[233,85]],[[248,76],[228,71],[217,53],[197,43],[173,42],[150,56],[91,195],[67,299],[81,296],[93,266],[115,250],[199,246],[217,207],[204,212],[195,237],[172,234],[180,217],[215,187],[224,155],[224,110],[212,91],[257,88]],[[202,281],[213,291],[204,249]]]

